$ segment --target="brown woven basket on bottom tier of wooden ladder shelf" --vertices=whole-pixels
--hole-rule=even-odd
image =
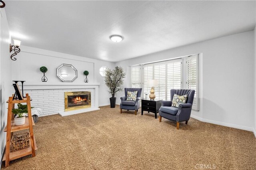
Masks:
[[[28,148],[30,146],[29,132],[14,134],[12,136],[11,152]]]

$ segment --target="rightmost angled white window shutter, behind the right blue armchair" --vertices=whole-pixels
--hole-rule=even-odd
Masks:
[[[186,88],[195,90],[192,109],[199,111],[198,103],[198,55],[192,55],[186,60]]]

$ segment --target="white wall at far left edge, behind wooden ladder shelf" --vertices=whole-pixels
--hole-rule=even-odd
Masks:
[[[6,133],[4,128],[6,126],[7,120],[7,107],[6,101],[8,97],[12,95],[12,79],[11,79],[11,59],[10,59],[10,35],[9,26],[6,19],[6,14],[4,8],[0,8],[0,154],[2,154],[6,142]],[[2,162],[0,162],[0,165]]]

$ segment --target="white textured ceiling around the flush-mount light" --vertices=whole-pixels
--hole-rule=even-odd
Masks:
[[[113,62],[256,24],[255,1],[6,1],[5,10],[22,45]]]

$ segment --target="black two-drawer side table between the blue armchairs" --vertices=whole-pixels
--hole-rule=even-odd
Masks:
[[[141,115],[143,115],[143,111],[152,112],[155,114],[155,118],[157,113],[159,112],[159,109],[161,107],[161,101],[162,100],[141,100]]]

